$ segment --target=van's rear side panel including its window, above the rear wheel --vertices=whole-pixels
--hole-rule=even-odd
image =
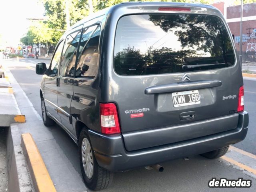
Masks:
[[[73,125],[76,120],[86,123],[95,130],[97,124],[97,95],[98,95],[98,49],[100,26],[93,25],[83,29],[81,43],[78,48],[79,56],[74,78],[74,98],[71,104]],[[98,124],[97,124],[98,125]]]

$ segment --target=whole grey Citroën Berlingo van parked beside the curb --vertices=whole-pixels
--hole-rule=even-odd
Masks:
[[[36,73],[44,124],[57,122],[78,144],[92,190],[112,172],[218,158],[248,130],[241,66],[212,6],[112,6],[72,26]]]

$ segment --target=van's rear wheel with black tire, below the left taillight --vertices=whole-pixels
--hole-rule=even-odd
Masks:
[[[113,180],[113,172],[98,165],[91,146],[86,130],[83,129],[79,137],[79,161],[81,172],[86,186],[90,190],[97,191],[110,186]],[[89,166],[87,172],[86,164]]]

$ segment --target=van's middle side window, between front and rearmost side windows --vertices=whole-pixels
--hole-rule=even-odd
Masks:
[[[81,31],[76,31],[66,38],[60,64],[60,75],[63,77],[74,77],[77,47]]]

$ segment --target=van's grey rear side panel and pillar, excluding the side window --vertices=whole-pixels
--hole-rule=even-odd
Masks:
[[[73,99],[71,102],[71,116],[74,130],[76,130],[76,123],[83,122],[85,128],[101,132],[100,116],[99,116],[99,68],[100,56],[102,47],[102,38],[104,33],[105,17],[100,16],[85,22],[84,28],[98,25],[101,28],[100,40],[98,47],[97,70],[95,78],[74,78],[73,82]],[[77,139],[79,133],[76,133]]]

